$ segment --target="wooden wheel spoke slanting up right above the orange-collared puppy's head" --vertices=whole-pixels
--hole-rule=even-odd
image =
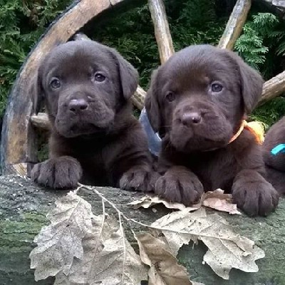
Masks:
[[[237,0],[232,14],[229,16],[229,21],[224,29],[222,38],[219,40],[219,48],[228,48],[231,50],[234,48],[234,43],[242,33],[244,23],[247,21],[247,14],[249,13],[251,5],[251,0]]]

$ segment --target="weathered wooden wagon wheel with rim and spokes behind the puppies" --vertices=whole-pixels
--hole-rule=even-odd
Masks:
[[[81,0],[76,1],[48,28],[44,36],[31,51],[14,83],[4,116],[1,135],[2,174],[26,175],[30,166],[37,162],[36,128],[48,128],[45,114],[33,114],[33,103],[28,93],[28,79],[46,53],[59,43],[68,41],[88,21],[126,0]],[[167,61],[174,48],[162,0],[148,0],[160,61]],[[242,32],[247,19],[251,0],[237,0],[224,34],[219,41],[220,48],[232,49]],[[285,91],[285,71],[264,84],[261,102],[276,97]],[[142,109],[145,91],[138,87],[133,103]]]

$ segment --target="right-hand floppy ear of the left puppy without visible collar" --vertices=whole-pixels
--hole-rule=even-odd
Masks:
[[[138,71],[116,52],[120,71],[120,84],[123,96],[126,100],[130,99],[138,88]]]

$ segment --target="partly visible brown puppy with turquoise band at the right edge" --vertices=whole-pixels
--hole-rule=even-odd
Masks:
[[[262,145],[267,180],[285,195],[285,117],[272,125]]]

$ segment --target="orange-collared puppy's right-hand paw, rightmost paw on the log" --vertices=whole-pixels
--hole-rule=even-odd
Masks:
[[[237,207],[249,216],[267,216],[279,202],[278,192],[254,170],[237,175],[232,187],[232,198]]]

